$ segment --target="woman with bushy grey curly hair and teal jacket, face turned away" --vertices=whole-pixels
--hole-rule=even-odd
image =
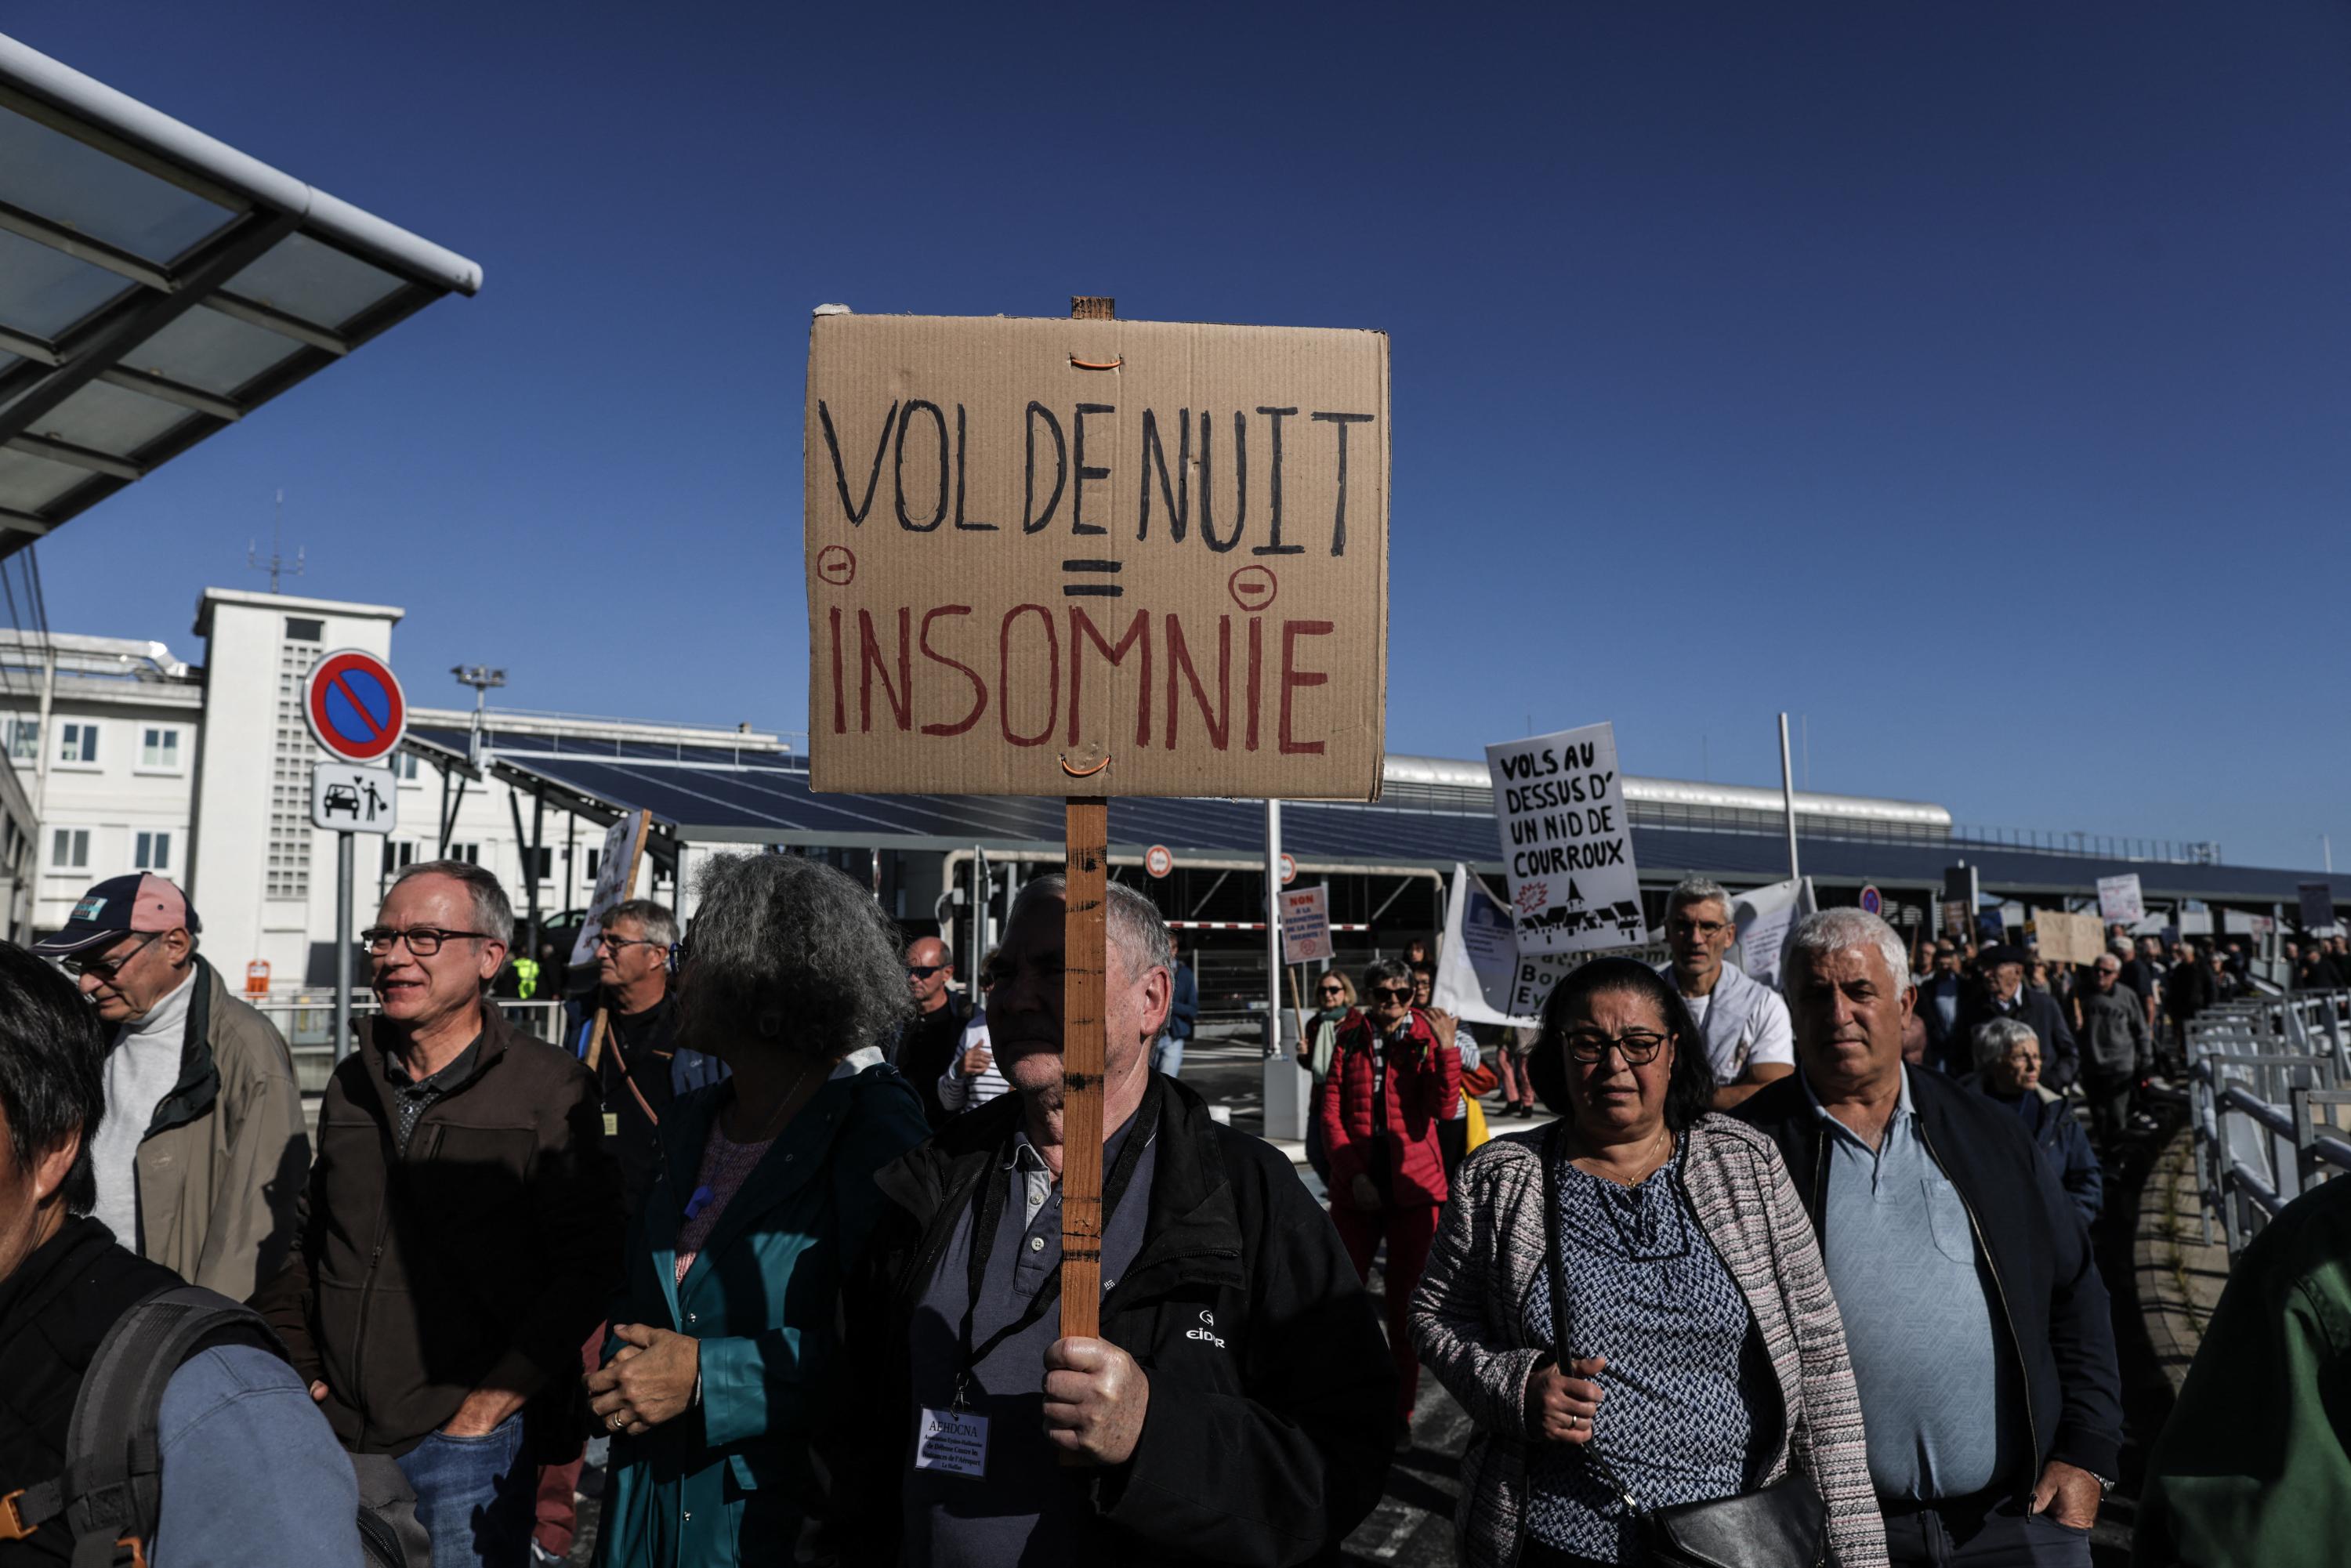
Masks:
[[[818,1497],[839,1276],[922,1103],[865,1051],[910,1011],[898,931],[802,856],[715,860],[677,952],[679,1044],[734,1072],[670,1103],[590,1408],[602,1563],[785,1561]]]

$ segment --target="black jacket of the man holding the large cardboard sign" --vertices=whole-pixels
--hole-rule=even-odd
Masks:
[[[1091,1495],[1107,1563],[1335,1563],[1380,1500],[1394,1436],[1371,1298],[1291,1164],[1159,1084],[1143,1251],[1103,1298],[1103,1338],[1143,1366],[1150,1410],[1126,1465],[1070,1483]],[[1002,1095],[875,1178],[886,1204],[842,1302],[842,1361],[868,1387],[832,1403],[846,1418],[802,1561],[898,1561],[912,1316],[980,1178],[1002,1180],[1020,1105]],[[1204,1312],[1215,1338],[1192,1333]]]

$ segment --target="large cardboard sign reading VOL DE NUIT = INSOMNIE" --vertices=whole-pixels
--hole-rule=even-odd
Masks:
[[[1375,799],[1387,339],[818,315],[816,790]]]

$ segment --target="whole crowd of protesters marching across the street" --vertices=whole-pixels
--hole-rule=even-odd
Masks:
[[[1422,1366],[1472,1422],[1476,1568],[2088,1563],[2123,1443],[2099,1147],[2243,985],[2217,947],[2076,973],[1860,910],[1763,983],[1693,877],[1665,966],[1582,964],[1486,1046],[1425,947],[1319,976],[1319,1208],[1180,1079],[1190,966],[1112,884],[1100,1328],[1063,1335],[1065,884],[964,987],[811,858],[694,891],[686,931],[604,912],[550,1046],[494,999],[498,882],[404,867],[315,1124],[174,884],[0,945],[0,1568],[560,1561],[590,1448],[614,1566],[1335,1561]],[[2339,940],[2288,964],[2351,978]],[[1552,1117],[1488,1138],[1483,1095]],[[2339,1269],[2335,1208],[2215,1319],[2266,1382],[2191,1378],[2210,1429],[2168,1439],[2193,1474],[2146,1535],[2177,1561],[2255,1561],[2215,1446],[2337,1375],[2276,1335]],[[85,1385],[162,1354],[129,1326],[183,1281],[228,1328],[92,1439]],[[2335,1408],[2285,1403],[2302,1493],[2351,1476]]]

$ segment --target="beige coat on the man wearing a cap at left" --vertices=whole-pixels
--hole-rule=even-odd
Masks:
[[[143,1253],[193,1286],[245,1300],[284,1267],[310,1173],[294,1056],[268,1018],[195,959],[179,1084],[139,1145]]]

